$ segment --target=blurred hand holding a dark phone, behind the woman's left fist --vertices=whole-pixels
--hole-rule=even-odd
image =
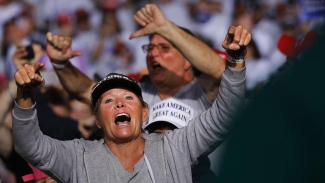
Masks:
[[[32,43],[31,46],[34,52],[34,58],[30,60],[24,59],[23,57],[27,55],[26,47],[22,44],[21,41],[16,42],[16,51],[12,56],[12,61],[17,69],[22,67],[24,64],[36,63],[38,59],[43,55],[44,51],[39,44]]]

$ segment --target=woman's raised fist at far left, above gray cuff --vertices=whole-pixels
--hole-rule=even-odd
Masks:
[[[17,87],[22,91],[32,91],[36,87],[45,84],[45,80],[40,76],[39,70],[44,63],[24,64],[14,73],[14,79]]]

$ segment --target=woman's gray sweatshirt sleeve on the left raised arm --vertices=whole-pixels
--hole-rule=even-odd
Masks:
[[[60,141],[44,135],[39,130],[35,105],[20,108],[15,103],[12,138],[15,151],[30,164],[59,182],[69,182],[78,140]]]

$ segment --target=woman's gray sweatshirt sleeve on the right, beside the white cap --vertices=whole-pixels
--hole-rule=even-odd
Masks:
[[[235,70],[226,66],[212,106],[187,126],[166,132],[165,137],[191,162],[200,155],[208,155],[225,140],[233,117],[242,109],[244,96],[245,67]]]

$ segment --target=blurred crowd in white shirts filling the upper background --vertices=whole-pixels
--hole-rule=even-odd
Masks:
[[[158,4],[168,19],[219,50],[231,24],[252,32],[245,57],[251,74],[247,75],[248,89],[267,80],[284,63],[285,56],[277,49],[283,33],[301,36],[324,20],[321,15],[302,13],[303,0],[1,0],[0,74],[12,79],[16,41],[24,45],[35,42],[44,48],[47,31],[72,37],[73,49],[83,53],[72,64],[90,78],[112,71],[145,74],[145,54],[139,45],[147,43],[147,38],[128,37],[137,29],[132,15],[148,2]],[[38,62],[44,62],[46,70],[52,69],[46,55]],[[250,72],[255,67],[261,68],[260,73]]]

